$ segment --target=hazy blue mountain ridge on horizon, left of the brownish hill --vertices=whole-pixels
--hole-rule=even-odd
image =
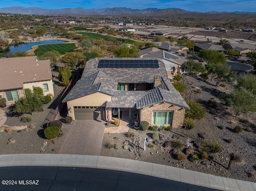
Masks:
[[[103,9],[84,9],[84,8],[64,8],[59,10],[43,9],[38,7],[6,7],[0,8],[0,13],[12,14],[32,14],[32,15],[62,15],[62,14],[147,14],[161,11],[158,8],[131,9],[125,7],[103,8]]]

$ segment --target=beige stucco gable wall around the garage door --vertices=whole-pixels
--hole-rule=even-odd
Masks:
[[[105,106],[106,101],[110,100],[111,96],[99,92],[70,100],[67,102],[67,106],[70,108],[68,115],[75,119],[74,106]]]

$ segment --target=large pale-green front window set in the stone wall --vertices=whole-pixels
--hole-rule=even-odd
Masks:
[[[170,124],[172,125],[173,112],[153,112],[152,124],[162,125]]]

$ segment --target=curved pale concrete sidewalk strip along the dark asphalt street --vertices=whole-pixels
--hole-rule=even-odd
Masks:
[[[105,156],[68,154],[0,155],[0,167],[64,166],[111,169],[139,173],[222,191],[256,191],[256,183],[214,176],[176,167]]]

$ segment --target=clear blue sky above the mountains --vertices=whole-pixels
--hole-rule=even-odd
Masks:
[[[45,9],[62,8],[180,8],[188,11],[256,12],[256,0],[0,0],[0,8],[22,6]]]

